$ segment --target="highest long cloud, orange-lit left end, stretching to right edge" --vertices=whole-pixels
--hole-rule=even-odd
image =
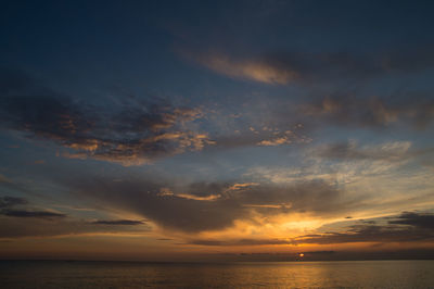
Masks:
[[[282,51],[259,55],[225,52],[186,53],[205,67],[232,77],[271,85],[363,80],[434,67],[432,45],[374,53]]]

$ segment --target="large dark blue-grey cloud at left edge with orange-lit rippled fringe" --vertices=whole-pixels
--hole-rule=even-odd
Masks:
[[[49,89],[39,92],[28,78],[14,77],[11,85],[0,86],[3,128],[51,140],[73,151],[64,156],[139,165],[213,143],[207,134],[188,127],[202,117],[200,109],[138,99],[116,108],[99,108]]]

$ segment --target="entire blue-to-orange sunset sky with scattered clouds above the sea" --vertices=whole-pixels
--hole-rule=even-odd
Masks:
[[[5,1],[0,257],[434,257],[432,1]]]

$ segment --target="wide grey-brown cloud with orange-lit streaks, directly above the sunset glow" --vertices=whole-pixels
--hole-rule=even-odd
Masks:
[[[141,215],[156,225],[187,233],[219,230],[254,215],[288,213],[331,215],[354,205],[329,183],[310,180],[286,186],[250,183],[168,184],[110,178],[80,178],[67,183],[80,198],[99,205]]]

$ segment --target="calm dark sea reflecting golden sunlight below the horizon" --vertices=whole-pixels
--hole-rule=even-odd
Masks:
[[[0,261],[0,288],[434,288],[434,261]]]

